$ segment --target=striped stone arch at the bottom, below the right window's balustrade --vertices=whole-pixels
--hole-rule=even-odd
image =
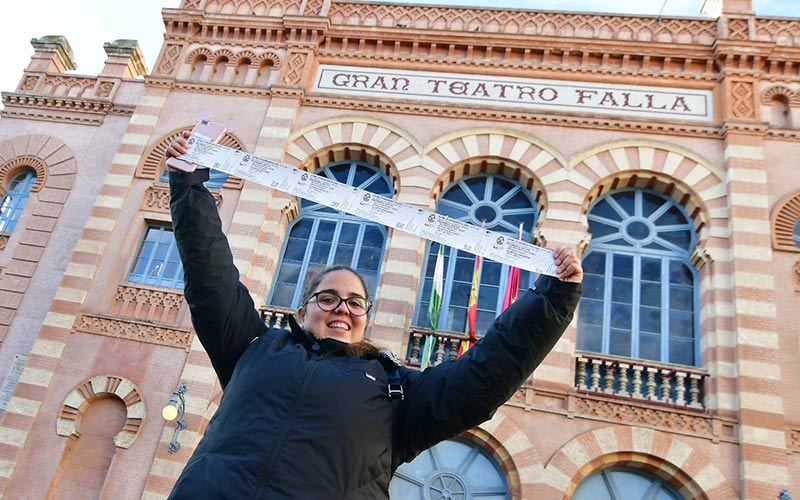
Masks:
[[[553,454],[545,465],[545,475],[568,500],[583,479],[613,465],[645,469],[667,480],[688,499],[737,498],[706,454],[673,434],[641,427],[609,426],[585,432]]]

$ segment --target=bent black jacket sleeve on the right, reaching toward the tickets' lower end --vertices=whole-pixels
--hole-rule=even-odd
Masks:
[[[423,372],[404,370],[408,397],[396,417],[396,460],[490,419],[564,333],[580,295],[580,284],[541,276],[461,358]]]

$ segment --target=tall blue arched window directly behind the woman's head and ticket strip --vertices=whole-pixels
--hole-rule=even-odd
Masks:
[[[330,163],[317,175],[388,198],[394,195],[388,176],[363,161]],[[334,265],[356,269],[374,297],[385,245],[384,226],[301,200],[300,215],[290,226],[269,303],[298,307],[306,281]]]

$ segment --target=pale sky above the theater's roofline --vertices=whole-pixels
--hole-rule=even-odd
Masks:
[[[536,10],[615,12],[665,16],[700,16],[702,0],[417,0],[434,5],[476,5]],[[78,69],[73,73],[96,75],[106,59],[103,43],[120,38],[139,40],[145,63],[152,69],[163,42],[163,7],[178,7],[180,0],[5,0],[0,14],[0,90],[13,91],[27,67],[31,38],[67,37]],[[753,0],[759,15],[800,17],[797,0]]]

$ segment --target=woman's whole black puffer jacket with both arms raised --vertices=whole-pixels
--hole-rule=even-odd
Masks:
[[[172,499],[376,500],[398,465],[490,418],[572,318],[580,285],[544,277],[461,359],[401,367],[388,396],[377,356],[345,355],[294,324],[268,330],[239,275],[207,170],[171,173],[175,238],[192,322],[225,390]]]

